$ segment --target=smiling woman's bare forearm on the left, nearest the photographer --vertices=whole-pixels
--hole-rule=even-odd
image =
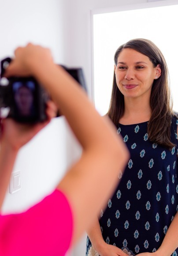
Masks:
[[[89,228],[88,237],[93,245],[93,248],[100,256],[126,256],[125,252],[114,245],[108,245],[102,236],[100,223],[96,217],[91,227]]]

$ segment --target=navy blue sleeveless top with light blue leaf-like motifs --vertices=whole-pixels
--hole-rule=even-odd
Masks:
[[[100,213],[104,241],[133,256],[155,252],[178,211],[178,120],[173,117],[171,122],[176,145],[171,151],[149,141],[147,125],[119,124],[130,160],[125,172],[119,171],[119,186]],[[90,247],[87,238],[86,255]],[[178,249],[172,256],[177,255]]]

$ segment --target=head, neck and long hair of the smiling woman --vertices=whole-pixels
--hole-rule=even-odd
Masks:
[[[169,131],[167,121],[171,122],[172,102],[167,64],[161,51],[152,41],[134,39],[116,50],[114,60],[115,74],[108,111],[113,123],[117,126],[119,120],[120,123],[127,124],[128,116],[129,124],[149,120],[149,138],[166,147],[172,146],[172,143],[169,144],[170,134],[167,132]],[[133,89],[128,89],[130,84]],[[131,106],[131,114],[129,106]],[[165,124],[161,132],[163,136],[160,137],[160,127],[163,124]]]

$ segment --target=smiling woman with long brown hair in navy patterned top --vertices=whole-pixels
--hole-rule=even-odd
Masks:
[[[121,45],[114,60],[108,116],[130,160],[88,231],[87,255],[95,249],[100,256],[177,256],[178,116],[167,64],[158,47],[142,38]]]

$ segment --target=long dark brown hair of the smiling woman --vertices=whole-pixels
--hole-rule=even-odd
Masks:
[[[171,118],[173,116],[172,99],[169,89],[169,74],[163,54],[158,47],[150,40],[137,38],[121,45],[115,52],[114,60],[117,65],[118,56],[122,49],[134,49],[139,53],[148,56],[154,67],[158,64],[161,67],[161,75],[154,79],[150,97],[152,115],[148,121],[148,138],[154,143],[171,148]],[[120,118],[124,113],[124,96],[117,87],[115,72],[108,116],[118,126]]]

